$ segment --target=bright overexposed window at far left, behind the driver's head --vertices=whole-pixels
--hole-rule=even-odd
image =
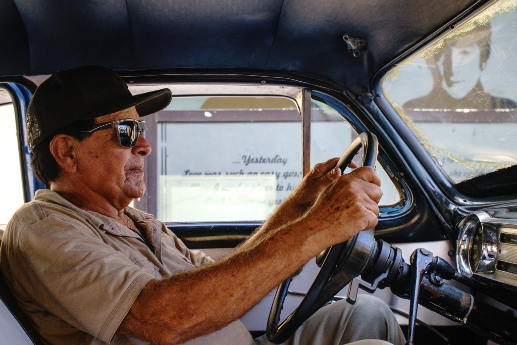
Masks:
[[[0,147],[4,148],[3,164],[0,169],[2,198],[0,199],[0,227],[7,224],[14,211],[23,204],[20,154],[16,130],[14,107],[10,94],[0,86]]]

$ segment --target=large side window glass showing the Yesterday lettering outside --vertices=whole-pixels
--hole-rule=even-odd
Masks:
[[[264,220],[302,177],[292,99],[174,98],[158,114],[156,137],[164,221]]]

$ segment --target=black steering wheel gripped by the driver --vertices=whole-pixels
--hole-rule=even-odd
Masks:
[[[363,132],[348,146],[337,166],[344,172],[355,155],[362,151],[362,166],[375,168],[378,143],[375,134]],[[373,229],[359,232],[348,241],[331,246],[317,256],[320,271],[314,279],[300,305],[282,323],[280,312],[283,308],[287,289],[292,277],[286,279],[277,288],[267,321],[267,339],[273,343],[285,342],[316,310],[324,306],[353,278],[359,276],[375,247]],[[323,261],[323,263],[322,263]]]

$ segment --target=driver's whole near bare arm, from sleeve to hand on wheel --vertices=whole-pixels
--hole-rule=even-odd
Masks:
[[[337,177],[307,212],[281,227],[266,222],[229,257],[150,281],[117,332],[174,344],[226,326],[321,250],[373,228],[382,196],[378,186],[368,167]]]

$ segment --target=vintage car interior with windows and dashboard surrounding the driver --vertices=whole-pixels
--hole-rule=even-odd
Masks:
[[[132,94],[171,90],[145,117],[147,191],[131,206],[212,258],[316,163],[381,176],[375,229],[247,312],[253,336],[281,343],[373,293],[411,343],[517,343],[516,19],[515,0],[0,0],[0,239],[48,187],[27,143],[35,89],[101,65]],[[0,299],[6,343],[43,343],[1,276]]]

